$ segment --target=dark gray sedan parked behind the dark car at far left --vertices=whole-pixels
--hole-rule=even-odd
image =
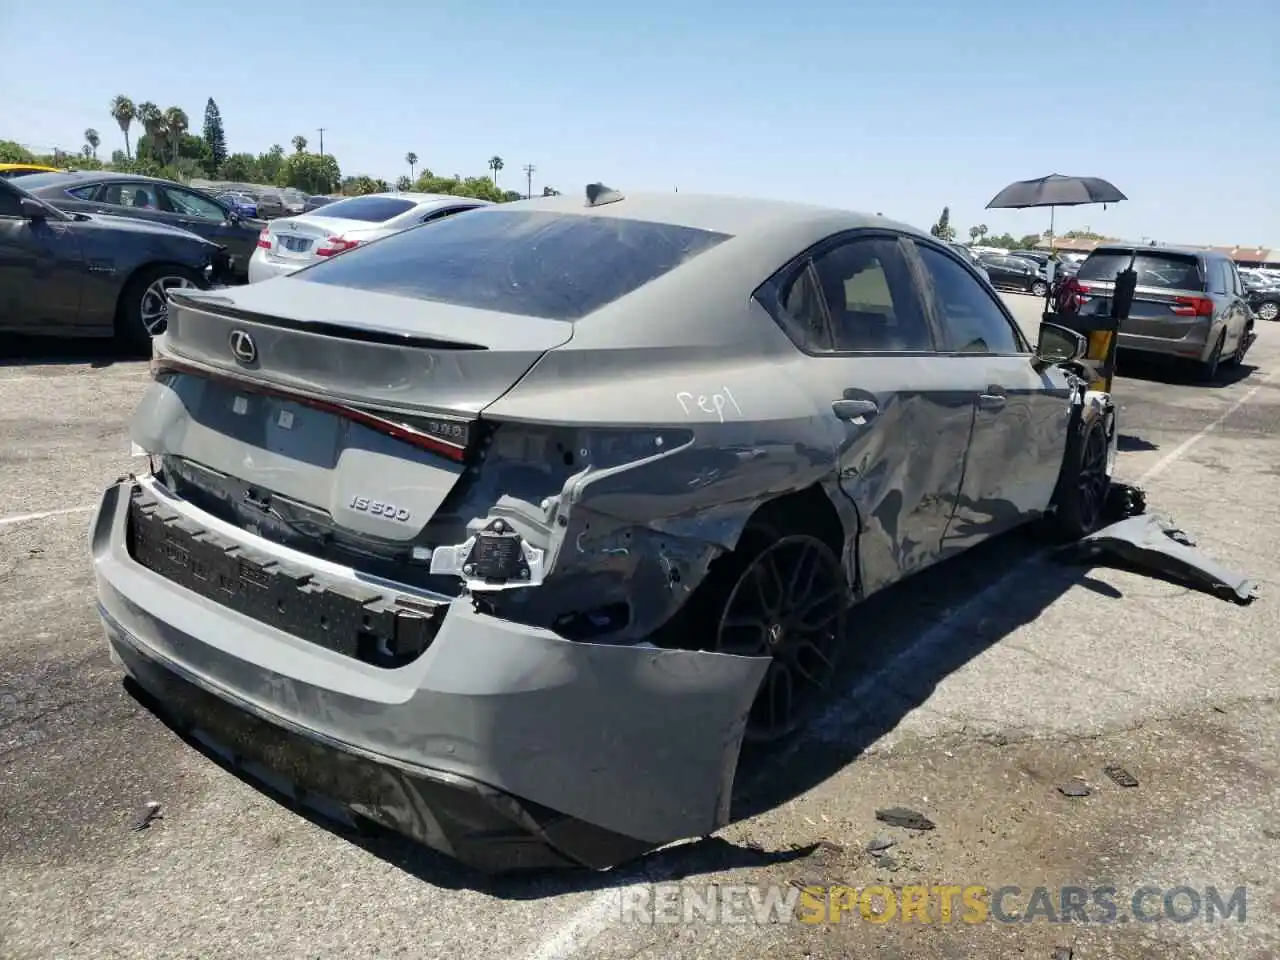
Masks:
[[[83,170],[24,177],[24,189],[59,210],[111,214],[177,227],[225,247],[232,256],[232,276],[247,282],[248,260],[266,225],[191,187],[155,177]]]

